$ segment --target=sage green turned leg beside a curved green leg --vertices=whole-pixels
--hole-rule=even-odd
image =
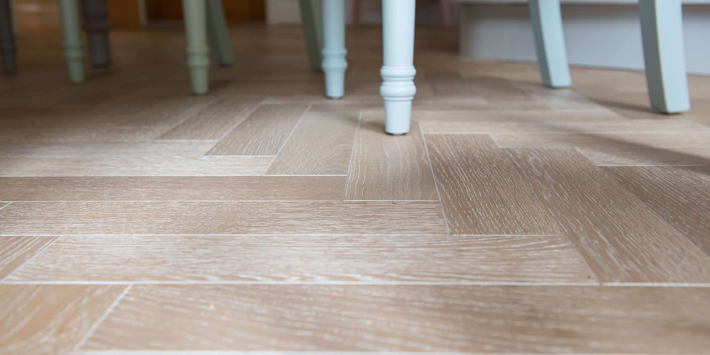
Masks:
[[[205,94],[209,87],[209,49],[207,48],[207,4],[205,0],[182,0],[187,35],[187,69],[192,92]]]

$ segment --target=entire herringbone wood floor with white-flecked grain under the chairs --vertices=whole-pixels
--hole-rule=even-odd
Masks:
[[[300,28],[231,37],[195,97],[179,28],[114,31],[80,86],[56,34],[20,36],[1,354],[710,352],[710,77],[663,116],[643,73],[547,89],[421,28],[387,136],[378,28],[349,32],[340,100]]]

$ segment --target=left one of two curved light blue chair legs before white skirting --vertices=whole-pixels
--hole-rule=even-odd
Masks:
[[[572,78],[564,48],[559,0],[530,0],[529,6],[542,82],[550,87],[569,87]]]

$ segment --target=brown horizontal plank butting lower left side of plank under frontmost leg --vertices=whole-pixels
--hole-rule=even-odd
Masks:
[[[0,200],[342,200],[345,179],[344,176],[0,178]]]

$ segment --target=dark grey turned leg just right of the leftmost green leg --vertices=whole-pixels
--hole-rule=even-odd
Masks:
[[[89,57],[94,67],[111,64],[109,50],[109,9],[106,0],[82,0],[84,31],[89,42]]]

